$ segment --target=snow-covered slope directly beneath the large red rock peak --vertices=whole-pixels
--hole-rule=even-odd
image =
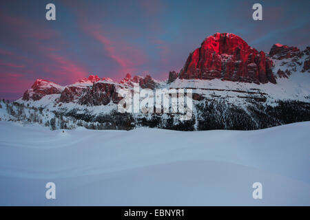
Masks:
[[[281,69],[281,67],[279,67]],[[204,94],[210,97],[211,94],[225,98],[230,103],[242,104],[238,96],[245,96],[236,91],[246,91],[267,94],[266,104],[273,104],[277,100],[299,100],[310,102],[310,76],[309,73],[296,72],[289,78],[277,78],[276,85],[273,83],[255,84],[214,80],[184,80],[177,78],[170,88],[195,88],[194,93]],[[207,89],[207,90],[204,90]],[[225,91],[216,91],[212,89],[225,89]]]

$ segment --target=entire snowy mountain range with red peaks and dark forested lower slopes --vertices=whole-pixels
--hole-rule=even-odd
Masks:
[[[5,104],[3,120],[92,129],[156,127],[184,131],[262,129],[310,120],[310,47],[273,45],[258,52],[235,34],[216,33],[189,54],[180,72],[166,81],[130,76],[121,82],[90,76],[65,87],[38,79],[23,98]],[[178,113],[118,113],[119,89],[192,89],[193,116]],[[4,112],[4,111],[3,111]],[[32,112],[32,117],[30,117]],[[13,116],[12,116],[13,115]]]

